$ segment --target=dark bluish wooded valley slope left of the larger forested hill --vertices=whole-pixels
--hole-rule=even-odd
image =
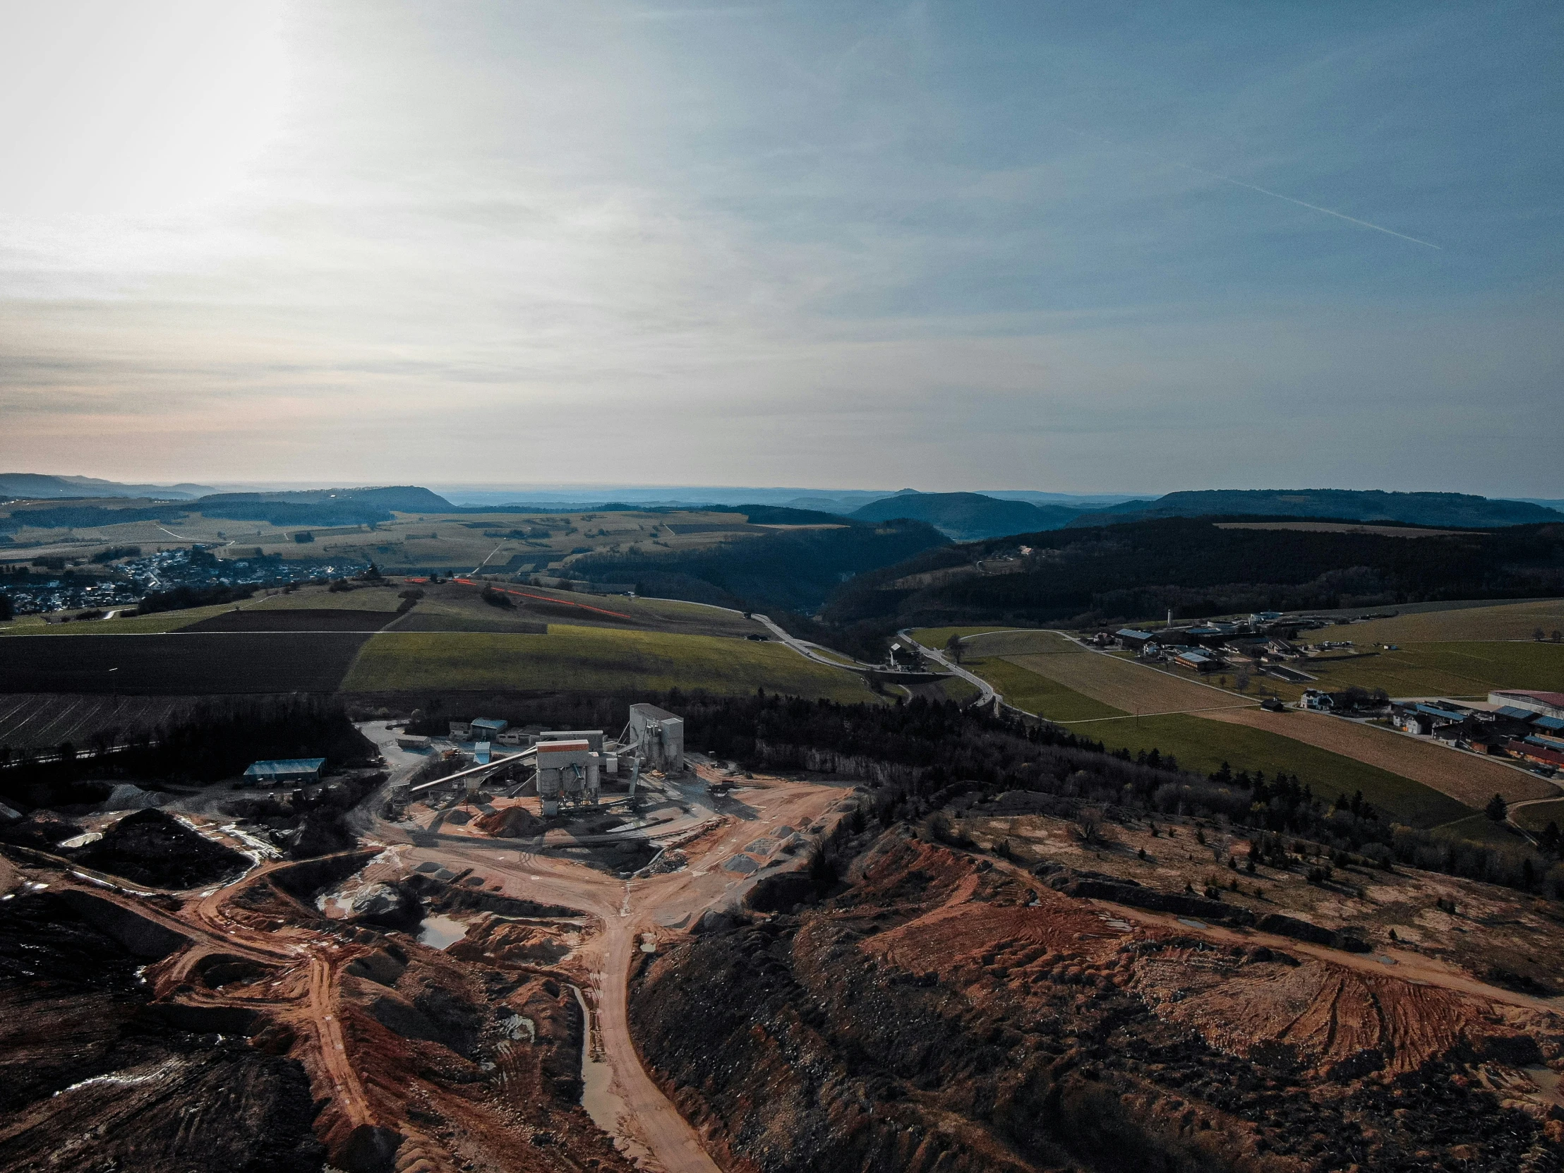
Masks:
[[[845,579],[945,544],[938,530],[918,521],[838,524],[696,551],[594,554],[572,561],[571,572],[591,582],[633,582],[638,593],[666,599],[802,613]]]

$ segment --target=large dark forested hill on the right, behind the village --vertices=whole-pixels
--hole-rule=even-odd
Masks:
[[[927,551],[845,583],[824,618],[893,630],[1555,594],[1564,524],[1403,538],[1168,518]]]

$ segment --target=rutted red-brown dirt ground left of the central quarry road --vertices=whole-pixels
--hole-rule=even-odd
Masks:
[[[9,860],[0,1168],[629,1173],[580,1107],[582,1015],[552,970],[588,926],[461,906],[480,931],[455,956],[322,917],[317,890],[372,856],[199,898]]]

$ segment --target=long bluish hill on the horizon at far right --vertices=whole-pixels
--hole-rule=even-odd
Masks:
[[[1564,513],[1525,500],[1495,500],[1465,493],[1384,493],[1381,490],[1201,490],[1168,493],[1156,500],[1126,500],[1071,519],[1071,527],[1151,518],[1336,518],[1403,521],[1411,526],[1494,529],[1564,521]],[[1038,527],[1042,529],[1042,527]]]

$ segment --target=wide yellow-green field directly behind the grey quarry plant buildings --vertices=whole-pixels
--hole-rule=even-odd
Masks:
[[[360,651],[349,693],[422,690],[774,693],[873,701],[852,673],[779,643],[549,624],[547,635],[385,632]]]

